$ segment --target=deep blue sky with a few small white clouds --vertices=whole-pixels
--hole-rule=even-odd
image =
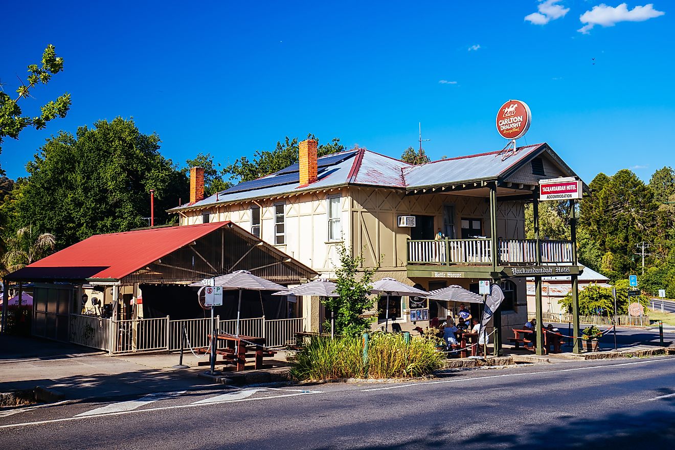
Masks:
[[[587,182],[626,167],[648,181],[675,165],[675,8],[605,2],[5,2],[5,91],[52,43],[64,72],[24,112],[63,92],[72,109],[6,138],[1,166],[23,176],[51,134],[117,116],[180,165],[308,132],[400,157],[419,121],[439,159],[501,149],[497,109],[519,99],[519,144],[548,142]]]

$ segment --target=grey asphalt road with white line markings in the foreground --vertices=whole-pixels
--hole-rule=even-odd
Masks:
[[[66,402],[0,421],[4,449],[670,447],[675,357]]]

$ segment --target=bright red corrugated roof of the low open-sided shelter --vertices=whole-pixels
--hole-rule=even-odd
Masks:
[[[27,279],[29,274],[47,272],[60,279],[121,279],[228,223],[93,235],[9,274],[7,279]]]

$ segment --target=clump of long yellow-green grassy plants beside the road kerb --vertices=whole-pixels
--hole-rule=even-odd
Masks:
[[[374,333],[367,367],[360,337],[311,337],[289,361],[298,380],[335,380],[365,378],[366,373],[370,378],[424,376],[439,369],[442,359],[430,341],[412,339],[406,344],[402,335]]]

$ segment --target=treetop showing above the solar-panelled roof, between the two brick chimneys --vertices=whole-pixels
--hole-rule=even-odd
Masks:
[[[307,135],[308,139],[316,139],[313,134]],[[344,151],[344,145],[340,144],[340,138],[333,138],[328,144],[321,144],[317,148],[317,156]],[[297,163],[300,159],[298,138],[290,139],[286,136],[284,142],[277,142],[277,146],[271,152],[256,150],[253,161],[248,157],[240,157],[234,163],[223,169],[223,175],[229,175],[234,181],[250,181],[274,173],[285,167]]]

